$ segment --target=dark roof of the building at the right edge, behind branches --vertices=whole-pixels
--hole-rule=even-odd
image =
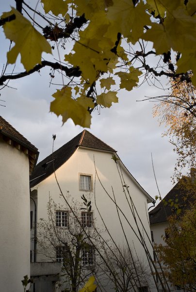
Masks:
[[[150,224],[166,222],[176,210],[173,203],[183,211],[189,208],[190,203],[196,201],[196,183],[191,178],[183,177],[153,210],[149,212]],[[165,202],[165,203],[164,203]],[[173,202],[173,203],[172,203]],[[172,203],[172,205],[171,205]]]

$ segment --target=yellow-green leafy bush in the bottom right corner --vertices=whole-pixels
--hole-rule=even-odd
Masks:
[[[169,219],[167,245],[156,247],[160,259],[169,268],[167,277],[176,286],[186,291],[196,290],[196,209],[192,206],[179,219]]]

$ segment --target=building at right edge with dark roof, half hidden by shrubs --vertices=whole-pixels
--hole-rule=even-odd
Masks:
[[[175,204],[177,203],[178,208],[181,209],[180,216],[183,212],[190,208],[190,203],[196,201],[196,189],[194,188],[196,181],[196,169],[191,169],[191,176],[182,177],[180,181],[169,191],[169,193],[164,197],[164,200],[149,212],[150,229],[153,245],[166,245],[164,237],[167,237],[167,228],[169,227],[168,218],[175,215],[177,208]],[[180,219],[180,218],[179,218]],[[163,273],[161,272],[160,265],[157,262],[157,257],[154,253],[154,261],[157,265],[158,271],[163,278]],[[163,272],[168,270],[162,264]],[[163,291],[160,281],[157,279],[159,286],[159,291]],[[178,287],[172,285],[167,279],[163,279],[163,284],[166,290],[176,291],[179,290]],[[182,290],[181,290],[182,291]]]

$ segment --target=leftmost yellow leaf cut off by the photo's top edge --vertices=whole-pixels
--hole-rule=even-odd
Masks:
[[[64,0],[41,0],[44,4],[44,10],[46,13],[51,11],[54,15],[58,16],[62,14],[63,16],[67,12],[67,1]]]

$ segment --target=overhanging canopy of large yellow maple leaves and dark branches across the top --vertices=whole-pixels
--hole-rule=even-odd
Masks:
[[[1,16],[5,36],[15,42],[7,54],[8,63],[21,55],[26,71],[7,74],[5,68],[0,85],[45,66],[59,70],[63,81],[53,94],[50,110],[61,115],[63,123],[72,118],[75,124],[90,127],[91,112],[111,107],[118,101],[117,91],[131,91],[139,78],[154,84],[164,75],[196,86],[195,0],[40,2],[44,13],[16,0],[18,11],[12,8]],[[35,21],[35,15],[40,21]],[[59,45],[67,50],[69,42],[71,49],[63,60],[53,63],[41,58]]]

